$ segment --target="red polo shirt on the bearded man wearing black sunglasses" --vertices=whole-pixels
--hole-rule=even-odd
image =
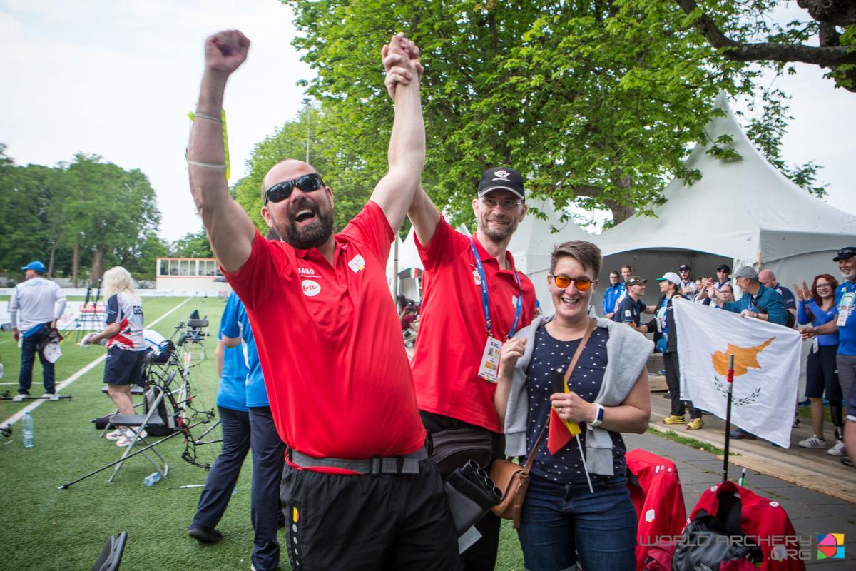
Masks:
[[[247,306],[276,431],[293,449],[365,459],[425,442],[386,283],[393,236],[370,201],[335,235],[332,266],[317,249],[257,232],[247,262],[225,274]]]

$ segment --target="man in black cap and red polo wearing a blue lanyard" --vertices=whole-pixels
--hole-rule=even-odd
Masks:
[[[425,265],[419,337],[411,360],[419,413],[435,439],[467,431],[492,448],[461,458],[486,467],[504,452],[493,406],[498,347],[532,321],[535,290],[516,270],[508,241],[526,216],[523,177],[507,166],[485,170],[473,199],[478,229],[455,231],[420,188],[407,216]],[[491,348],[497,350],[491,354]],[[482,538],[463,554],[466,569],[493,569],[500,520],[476,525]]]

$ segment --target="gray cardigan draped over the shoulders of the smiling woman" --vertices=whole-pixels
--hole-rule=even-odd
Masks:
[[[505,412],[505,454],[509,456],[526,454],[526,417],[529,411],[526,370],[535,348],[535,332],[551,319],[552,316],[539,316],[532,324],[514,335],[526,339],[526,350],[514,367]],[[654,343],[627,325],[615,323],[610,319],[597,318],[597,327],[609,330],[609,341],[606,342],[608,362],[603,372],[603,384],[595,402],[604,407],[615,407],[621,404],[633,389],[633,384],[651,355]],[[587,427],[586,466],[589,473],[607,476],[614,474],[612,438],[609,437],[609,431],[600,427]]]

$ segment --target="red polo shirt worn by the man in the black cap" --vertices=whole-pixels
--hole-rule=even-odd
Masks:
[[[473,236],[475,239],[475,237]],[[487,279],[493,336],[505,341],[514,323],[520,290],[514,271],[499,263],[475,239],[476,251]],[[416,241],[425,265],[419,336],[411,366],[419,410],[463,420],[502,432],[493,393],[496,385],[479,378],[479,361],[487,342],[479,271],[468,236],[457,232],[441,217],[427,248]],[[506,253],[508,265],[514,258]],[[522,273],[523,308],[517,330],[535,315],[535,289]]]

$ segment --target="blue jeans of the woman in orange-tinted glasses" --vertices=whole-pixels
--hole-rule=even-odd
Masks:
[[[527,571],[636,568],[636,510],[627,480],[610,485],[560,484],[532,474],[520,512]]]

